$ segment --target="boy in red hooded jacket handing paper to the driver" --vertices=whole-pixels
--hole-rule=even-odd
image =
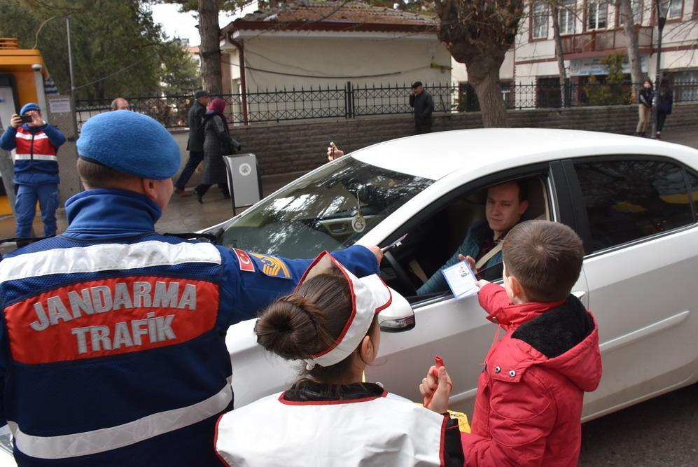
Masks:
[[[485,358],[466,466],[577,465],[582,400],[601,379],[596,321],[571,295],[583,256],[571,228],[526,221],[504,240],[504,287],[478,282],[487,319],[507,334]]]

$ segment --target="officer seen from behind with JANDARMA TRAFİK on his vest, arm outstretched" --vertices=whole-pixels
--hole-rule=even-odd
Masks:
[[[87,191],[66,202],[67,231],[0,262],[0,407],[15,459],[219,465],[214,424],[233,402],[225,332],[291,292],[310,260],[156,233],[180,156],[152,118],[93,117],[78,155]],[[359,277],[378,270],[375,247],[335,256]]]

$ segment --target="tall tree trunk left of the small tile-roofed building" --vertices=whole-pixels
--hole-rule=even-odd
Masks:
[[[199,34],[203,88],[211,95],[221,95],[221,29],[216,0],[199,0]]]

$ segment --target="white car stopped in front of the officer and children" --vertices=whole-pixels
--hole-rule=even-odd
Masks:
[[[585,396],[584,419],[697,382],[698,151],[686,146],[545,129],[406,137],[323,165],[209,232],[227,246],[288,258],[384,246],[407,233],[382,277],[412,303],[414,327],[393,323],[405,331],[384,333],[367,378],[419,400],[439,354],[453,379],[450,408],[471,414],[496,326],[475,296],[416,288],[484,218],[487,187],[512,180],[529,186],[526,218],[566,223],[585,244],[573,293],[598,320],[603,378]],[[501,280],[491,269],[488,278]],[[253,324],[232,326],[227,339],[237,407],[286,389],[298,370],[256,344]]]

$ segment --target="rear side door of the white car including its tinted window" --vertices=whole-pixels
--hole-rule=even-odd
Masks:
[[[589,307],[603,378],[585,396],[598,416],[695,380],[698,228],[690,177],[669,158],[564,161],[585,240]]]

